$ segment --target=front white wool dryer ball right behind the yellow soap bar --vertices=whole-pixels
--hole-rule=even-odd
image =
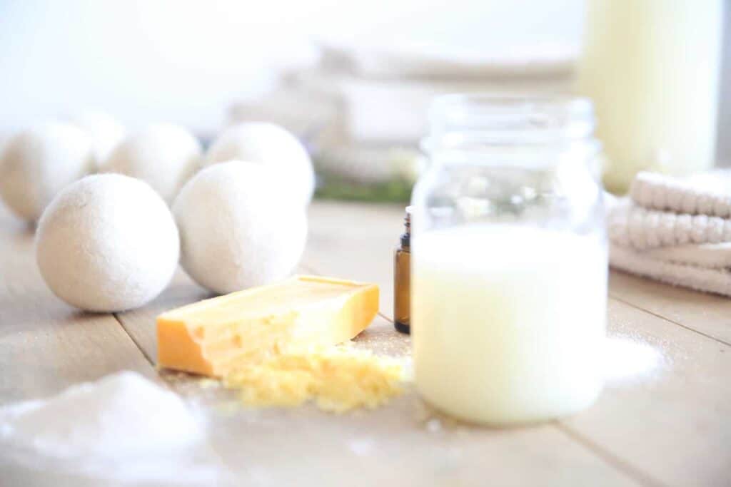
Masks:
[[[229,161],[198,172],[173,213],[181,264],[219,294],[272,283],[297,266],[307,239],[305,207],[273,193],[269,169]]]

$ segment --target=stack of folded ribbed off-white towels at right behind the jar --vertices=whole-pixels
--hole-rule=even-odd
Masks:
[[[610,264],[665,283],[731,296],[731,175],[641,172],[608,198]]]

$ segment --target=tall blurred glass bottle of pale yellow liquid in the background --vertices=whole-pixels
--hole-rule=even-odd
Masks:
[[[594,101],[605,185],[714,164],[723,0],[589,0],[577,91]]]

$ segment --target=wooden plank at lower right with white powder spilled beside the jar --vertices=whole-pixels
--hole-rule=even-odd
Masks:
[[[728,485],[731,348],[615,299],[608,318],[610,370],[635,373],[564,425],[664,484]]]

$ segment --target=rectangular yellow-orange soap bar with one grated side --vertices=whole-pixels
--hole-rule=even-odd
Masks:
[[[317,276],[246,289],[157,317],[160,367],[222,377],[241,364],[355,337],[378,312],[375,284]]]

